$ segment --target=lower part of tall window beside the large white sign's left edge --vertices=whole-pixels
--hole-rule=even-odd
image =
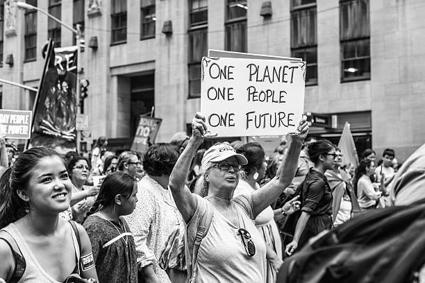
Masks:
[[[208,28],[189,31],[189,98],[201,97],[201,60],[208,52]]]

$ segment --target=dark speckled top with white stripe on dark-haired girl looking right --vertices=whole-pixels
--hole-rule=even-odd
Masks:
[[[83,227],[92,243],[99,282],[138,281],[138,263],[133,236],[128,235],[124,220],[107,221],[97,214],[88,216]]]

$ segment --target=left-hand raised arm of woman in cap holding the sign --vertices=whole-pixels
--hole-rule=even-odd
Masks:
[[[197,209],[197,198],[185,186],[185,182],[188,178],[192,158],[203,143],[203,135],[205,135],[206,131],[205,117],[197,112],[192,119],[192,137],[189,140],[189,144],[178,157],[169,177],[169,189],[171,189],[174,202],[186,223],[190,221]]]

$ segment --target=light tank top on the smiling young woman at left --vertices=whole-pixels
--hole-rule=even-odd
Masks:
[[[78,241],[76,239],[76,235],[74,234],[74,230],[72,230],[72,226],[70,224],[69,230],[72,234],[72,242],[74,243],[76,259],[79,259],[80,249],[78,247]],[[57,280],[54,280],[53,277],[51,277],[49,274],[47,274],[46,271],[44,271],[38,260],[33,255],[33,252],[31,252],[31,249],[29,248],[24,237],[22,237],[21,232],[19,232],[15,224],[10,223],[5,228],[3,228],[2,231],[8,232],[8,234],[10,234],[10,236],[15,240],[22,254],[22,257],[24,257],[25,259],[25,272],[17,283],[62,283]],[[12,250],[12,253],[15,253],[15,251]]]

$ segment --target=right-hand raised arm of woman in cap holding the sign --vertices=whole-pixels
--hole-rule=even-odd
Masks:
[[[276,177],[270,180],[263,188],[253,192],[252,203],[254,217],[271,205],[274,200],[282,194],[283,190],[291,184],[295,172],[297,171],[301,146],[308,132],[306,119],[302,119],[299,122],[298,130],[298,135],[289,136],[290,145],[288,151],[285,153],[285,157],[283,157],[283,162],[278,168]]]

